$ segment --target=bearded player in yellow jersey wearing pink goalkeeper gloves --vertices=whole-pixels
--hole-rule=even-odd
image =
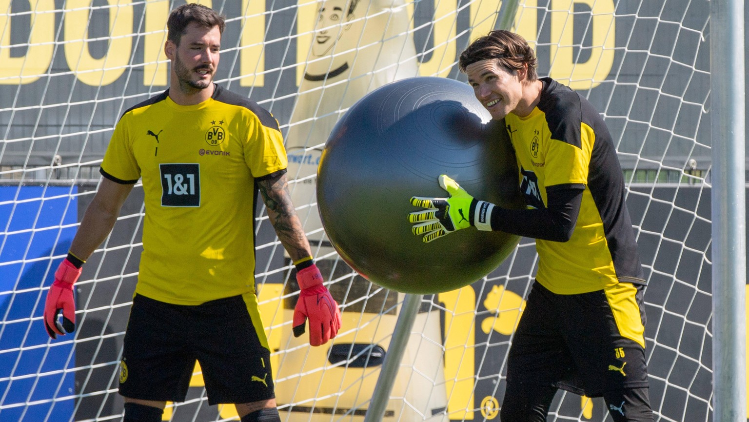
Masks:
[[[243,422],[280,421],[255,295],[258,191],[297,266],[294,334],[309,318],[309,341],[319,346],[341,325],[291,203],[278,122],[213,83],[224,26],[223,16],[198,4],[170,14],[169,89],[118,121],[99,190],[46,299],[50,337],[73,332],[73,283],[142,179],[143,253],[120,374],[126,422],[161,421],[166,401],[184,401],[195,361],[210,405],[234,403]]]

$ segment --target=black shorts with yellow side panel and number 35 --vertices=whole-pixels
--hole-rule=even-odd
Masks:
[[[507,382],[602,397],[648,386],[643,286],[556,295],[538,282],[512,339]]]

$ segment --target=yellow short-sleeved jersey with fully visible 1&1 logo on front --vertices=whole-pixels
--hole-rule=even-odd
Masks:
[[[286,165],[273,115],[219,85],[193,106],[165,91],[128,109],[100,172],[122,184],[142,179],[136,293],[191,305],[255,292],[255,182]]]

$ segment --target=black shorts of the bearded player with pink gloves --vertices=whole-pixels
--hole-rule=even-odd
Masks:
[[[198,361],[208,404],[269,400],[270,350],[248,293],[197,306],[133,298],[120,364],[120,394],[183,402]]]

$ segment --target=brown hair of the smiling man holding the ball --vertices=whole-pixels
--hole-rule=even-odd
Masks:
[[[536,73],[538,60],[528,42],[518,34],[510,31],[491,31],[485,37],[477,38],[470,43],[458,59],[458,67],[465,73],[466,67],[476,61],[496,59],[500,66],[508,70],[521,70],[528,65],[528,80],[539,79]]]

